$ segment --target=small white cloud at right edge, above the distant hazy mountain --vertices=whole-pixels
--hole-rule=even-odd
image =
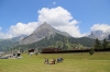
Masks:
[[[91,31],[102,31],[103,33],[108,29],[110,29],[110,25],[108,24],[95,24],[91,28]]]

